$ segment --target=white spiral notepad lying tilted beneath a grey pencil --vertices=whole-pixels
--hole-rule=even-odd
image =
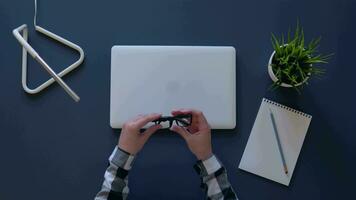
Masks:
[[[284,172],[270,112],[273,112],[280,145],[288,168]],[[288,186],[312,116],[263,99],[239,168]]]

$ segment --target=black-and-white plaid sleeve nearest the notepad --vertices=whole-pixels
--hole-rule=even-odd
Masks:
[[[227,178],[226,169],[215,155],[204,161],[199,160],[194,165],[194,169],[200,176],[201,188],[206,193],[207,200],[237,199]]]

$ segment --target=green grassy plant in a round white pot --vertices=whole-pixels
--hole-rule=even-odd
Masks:
[[[299,87],[307,84],[311,76],[320,76],[325,70],[318,64],[327,63],[329,55],[318,53],[320,37],[305,44],[304,31],[297,23],[293,37],[288,31],[287,40],[284,35],[280,39],[272,33],[273,53],[268,62],[268,73],[274,82],[272,88]]]

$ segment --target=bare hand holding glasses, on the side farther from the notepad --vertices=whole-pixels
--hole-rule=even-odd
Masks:
[[[140,129],[152,120],[158,119],[160,116],[160,114],[139,115],[124,123],[118,142],[119,148],[133,155],[138,153],[148,138],[162,126],[152,125],[143,133],[140,132]]]

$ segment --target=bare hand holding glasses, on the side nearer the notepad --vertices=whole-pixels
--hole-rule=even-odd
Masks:
[[[213,155],[211,147],[211,129],[204,114],[201,111],[192,109],[178,109],[172,111],[173,116],[180,114],[191,114],[192,124],[186,128],[173,125],[171,131],[174,131],[183,137],[190,151],[198,160],[206,160],[210,158]]]

